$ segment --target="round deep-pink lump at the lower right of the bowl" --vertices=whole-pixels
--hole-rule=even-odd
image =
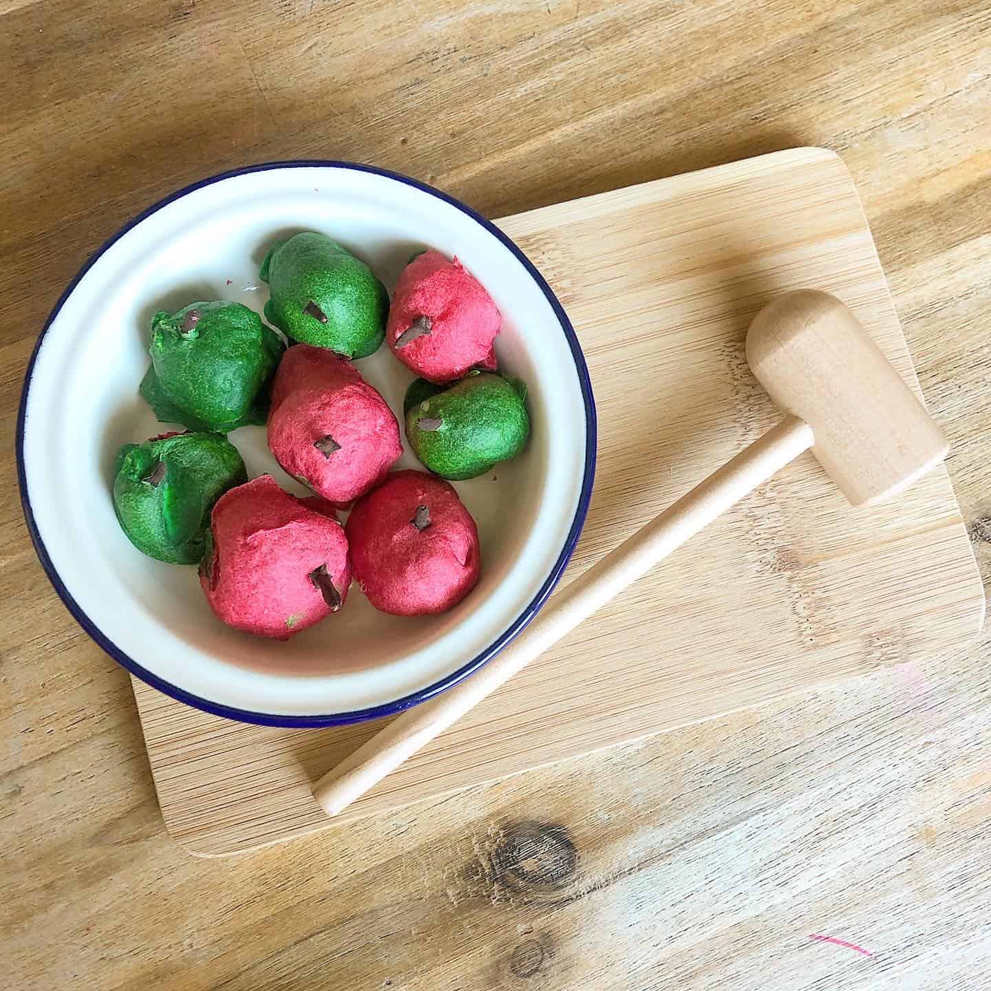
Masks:
[[[421,505],[430,525],[418,530],[412,520]],[[475,520],[452,486],[424,472],[390,475],[355,504],[346,530],[355,578],[383,612],[444,612],[478,583]]]

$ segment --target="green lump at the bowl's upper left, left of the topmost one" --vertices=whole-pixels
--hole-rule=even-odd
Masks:
[[[141,394],[165,423],[226,433],[264,423],[282,355],[278,335],[241,303],[190,303],[152,317]]]

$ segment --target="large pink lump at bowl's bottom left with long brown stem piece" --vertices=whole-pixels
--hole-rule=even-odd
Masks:
[[[229,626],[287,640],[319,622],[332,611],[310,578],[321,565],[344,604],[348,539],[327,502],[296,498],[263,475],[218,499],[211,531],[212,574],[200,585]]]

